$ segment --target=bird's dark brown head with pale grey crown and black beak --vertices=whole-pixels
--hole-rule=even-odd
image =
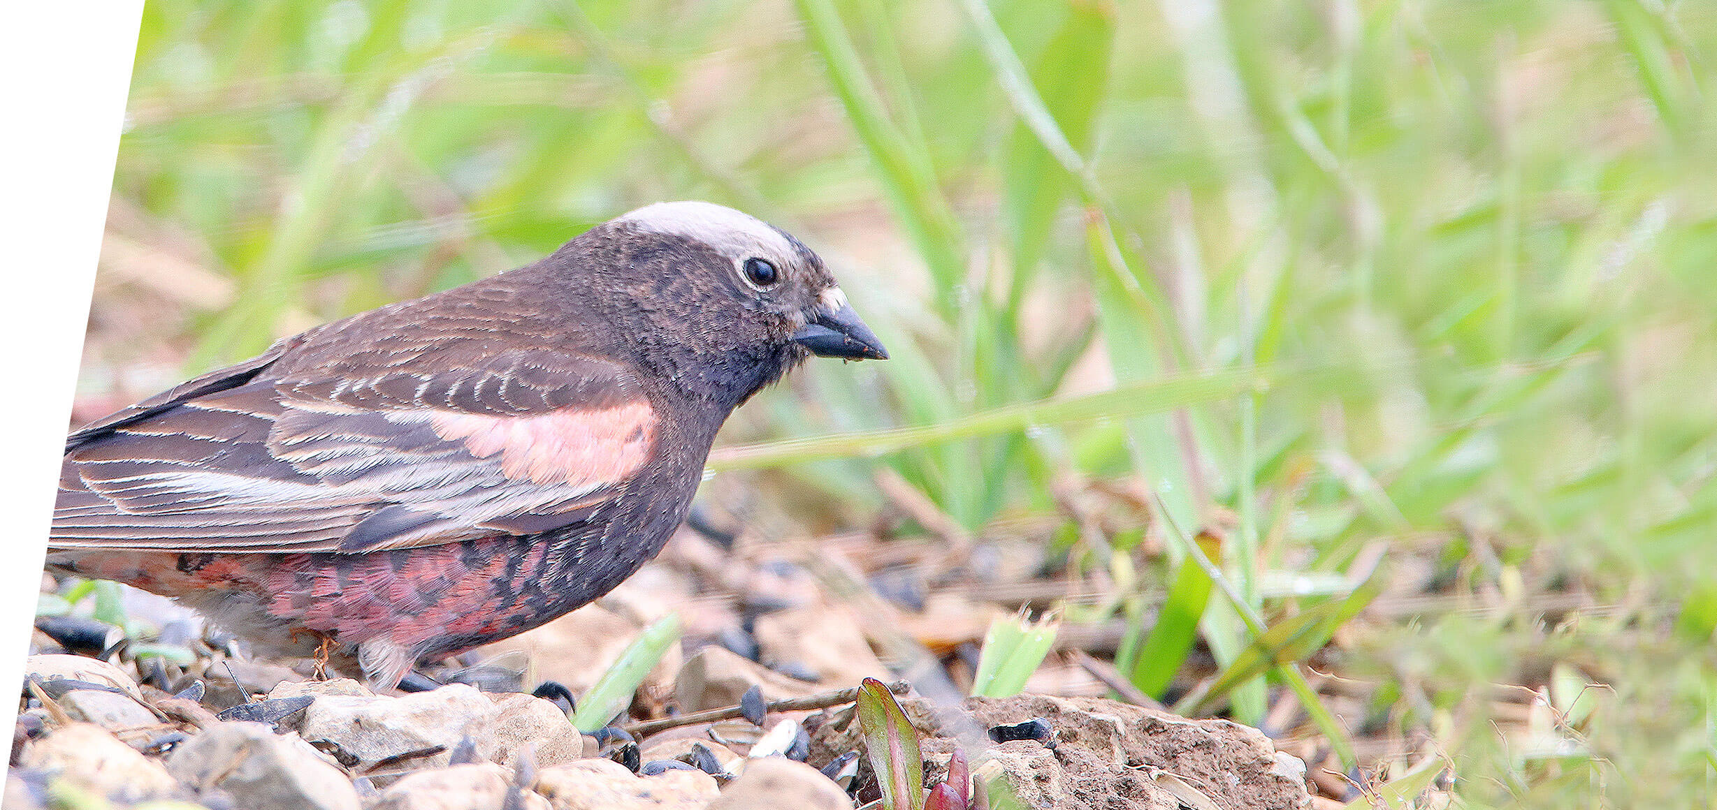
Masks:
[[[731,208],[658,202],[565,251],[604,276],[611,312],[634,323],[628,336],[644,354],[690,360],[663,371],[704,378],[740,402],[807,355],[888,359],[817,254]],[[658,340],[671,345],[647,345]]]

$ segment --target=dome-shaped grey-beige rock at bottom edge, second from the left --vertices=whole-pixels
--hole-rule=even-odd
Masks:
[[[218,788],[247,810],[359,810],[357,789],[295,734],[261,722],[204,728],[167,759],[197,791]]]

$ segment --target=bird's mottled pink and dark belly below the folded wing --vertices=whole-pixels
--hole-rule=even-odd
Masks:
[[[326,637],[343,649],[379,638],[421,659],[558,618],[610,590],[661,546],[591,541],[491,537],[366,554],[89,549],[55,551],[48,563],[177,597],[264,656],[309,656]]]

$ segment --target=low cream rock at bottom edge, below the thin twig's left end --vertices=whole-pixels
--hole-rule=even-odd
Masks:
[[[604,759],[543,769],[536,789],[553,810],[704,810],[719,795],[716,777],[702,771],[639,777]]]

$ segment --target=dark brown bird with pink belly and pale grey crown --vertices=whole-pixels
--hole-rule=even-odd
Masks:
[[[656,202],[70,432],[48,568],[395,688],[654,558],[721,424],[810,355],[888,359],[798,239]]]

